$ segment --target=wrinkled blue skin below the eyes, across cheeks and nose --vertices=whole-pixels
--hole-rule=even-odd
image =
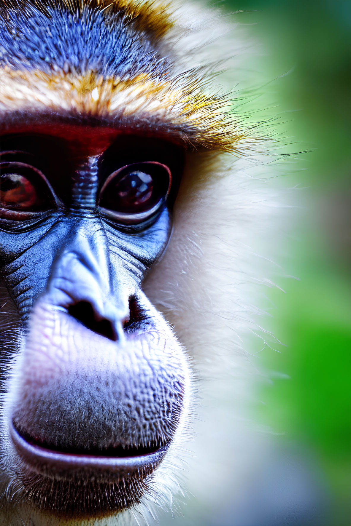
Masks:
[[[63,274],[68,284],[75,284],[73,301],[103,303],[109,298],[116,310],[122,310],[129,296],[138,296],[145,274],[162,254],[170,224],[167,207],[138,234],[119,231],[98,213],[76,217],[56,211],[34,225],[23,221],[22,231],[19,225],[11,228],[7,220],[0,220],[1,272],[19,314],[26,319],[34,299]],[[86,288],[101,290],[101,298],[91,298]],[[69,303],[71,294],[66,295]],[[99,314],[110,318],[103,308]]]

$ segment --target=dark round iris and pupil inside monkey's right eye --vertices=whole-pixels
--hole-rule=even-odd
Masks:
[[[135,170],[118,181],[115,189],[124,206],[142,205],[152,195],[152,177],[143,171]]]

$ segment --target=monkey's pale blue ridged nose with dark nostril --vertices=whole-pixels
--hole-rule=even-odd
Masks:
[[[111,274],[109,246],[99,223],[75,222],[70,236],[71,242],[57,252],[42,300],[92,332],[121,343],[130,319],[129,284],[118,271]],[[122,266],[118,270],[124,276]]]

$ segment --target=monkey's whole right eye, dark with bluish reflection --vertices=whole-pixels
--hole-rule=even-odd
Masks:
[[[170,187],[170,169],[161,163],[123,166],[106,179],[100,192],[100,210],[123,224],[137,224],[161,208]]]

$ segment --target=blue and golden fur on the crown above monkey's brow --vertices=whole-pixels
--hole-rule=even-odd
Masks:
[[[176,4],[166,13],[149,2],[4,3],[4,113],[71,112],[122,120],[129,129],[151,122],[194,147],[242,151],[252,144],[251,131],[228,112],[228,95],[210,86],[211,73],[196,56],[203,52],[201,41],[195,48],[189,42],[191,32],[204,36],[197,34],[200,25],[192,27],[192,18],[189,25],[189,8]],[[149,18],[153,29],[145,28]],[[213,26],[208,18],[202,23],[201,30]]]

